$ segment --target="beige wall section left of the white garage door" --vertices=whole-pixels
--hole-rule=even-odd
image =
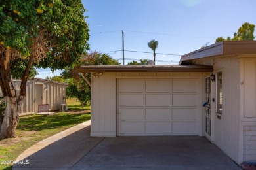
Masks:
[[[116,136],[116,75],[91,77],[91,136]]]

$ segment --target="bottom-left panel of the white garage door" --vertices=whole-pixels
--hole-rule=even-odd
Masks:
[[[118,131],[123,134],[144,134],[144,122],[119,122]]]

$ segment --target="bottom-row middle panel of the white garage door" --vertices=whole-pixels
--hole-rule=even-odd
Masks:
[[[146,134],[169,134],[170,122],[146,122]]]

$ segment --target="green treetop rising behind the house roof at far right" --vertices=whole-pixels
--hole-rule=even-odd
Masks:
[[[234,33],[234,37],[231,39],[231,37],[227,37],[226,39],[223,37],[218,37],[215,40],[215,43],[221,42],[221,41],[241,41],[241,40],[254,40],[255,36],[253,35],[255,30],[255,25],[250,24],[249,22],[245,22],[242,24],[242,26],[238,29],[238,32]]]

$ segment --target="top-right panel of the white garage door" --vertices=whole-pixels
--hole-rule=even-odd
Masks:
[[[196,80],[173,80],[174,93],[196,93],[198,82]]]

